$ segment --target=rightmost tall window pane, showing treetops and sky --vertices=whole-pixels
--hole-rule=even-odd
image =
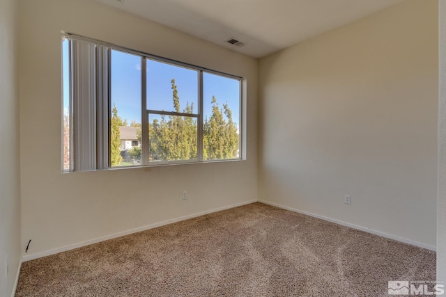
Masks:
[[[203,160],[240,158],[240,81],[203,72]]]

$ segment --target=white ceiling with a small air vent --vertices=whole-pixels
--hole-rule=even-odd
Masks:
[[[260,58],[403,0],[95,1]]]

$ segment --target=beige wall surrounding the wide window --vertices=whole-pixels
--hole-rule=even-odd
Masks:
[[[256,200],[256,59],[94,1],[22,0],[20,24],[24,259]],[[61,174],[61,30],[247,79],[247,161]]]

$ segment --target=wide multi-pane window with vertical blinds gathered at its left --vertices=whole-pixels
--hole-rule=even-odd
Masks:
[[[63,34],[63,171],[241,159],[242,79]]]

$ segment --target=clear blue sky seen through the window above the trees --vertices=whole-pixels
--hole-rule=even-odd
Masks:
[[[186,102],[194,103],[194,113],[198,107],[198,74],[190,70],[153,60],[147,62],[147,108],[174,111],[171,79],[175,79],[180,97],[180,109]],[[141,122],[141,57],[122,51],[112,50],[112,106],[116,104],[118,115],[128,120]],[[222,109],[225,102],[233,114],[233,122],[239,122],[239,86],[236,79],[215,74],[203,73],[204,117],[210,118],[212,97]],[[63,42],[63,105],[68,106],[68,41]],[[151,117],[153,118],[153,117]]]

